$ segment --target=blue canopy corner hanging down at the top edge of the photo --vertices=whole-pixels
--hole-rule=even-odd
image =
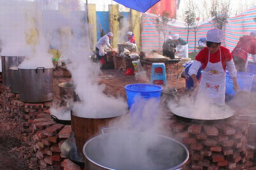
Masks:
[[[151,8],[160,0],[114,0],[114,1],[121,3],[123,6],[126,6],[127,8],[131,8],[139,12],[146,12],[149,8]]]

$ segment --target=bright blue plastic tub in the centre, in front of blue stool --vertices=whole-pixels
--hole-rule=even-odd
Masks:
[[[135,96],[141,97],[144,100],[149,100],[152,98],[160,100],[163,87],[155,84],[129,84],[125,86],[125,90],[127,96],[127,104],[130,109],[131,105],[134,104]]]

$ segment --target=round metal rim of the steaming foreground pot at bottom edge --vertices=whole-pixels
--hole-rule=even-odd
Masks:
[[[170,139],[171,141],[174,141],[174,142],[179,143],[179,145],[181,145],[181,146],[184,148],[184,150],[185,150],[185,152],[186,152],[186,154],[187,154],[185,160],[184,160],[182,163],[180,163],[179,165],[176,165],[175,167],[168,168],[168,169],[163,169],[163,170],[174,170],[174,169],[180,168],[182,165],[184,165],[184,164],[188,161],[189,152],[188,152],[187,147],[185,147],[185,145],[183,145],[183,143],[181,143],[181,142],[179,142],[179,141],[176,141],[175,139],[172,139],[172,138],[169,138],[169,137],[160,135],[160,134],[147,133],[147,132],[141,132],[141,131],[121,131],[121,132],[117,132],[117,134],[118,134],[118,133],[151,134],[151,135],[157,135],[158,137],[163,137],[163,138],[166,138],[166,139]],[[107,133],[107,134],[101,134],[101,135],[110,135],[110,134],[113,134],[113,133]],[[89,139],[89,140],[85,143],[85,145],[82,147],[82,152],[83,152],[85,158],[88,159],[88,160],[89,160],[91,163],[93,163],[94,165],[97,165],[98,167],[101,167],[101,168],[104,168],[104,169],[108,169],[108,170],[116,170],[116,169],[109,168],[109,167],[105,167],[105,166],[103,166],[103,165],[100,165],[100,164],[94,162],[92,159],[89,158],[89,156],[88,156],[88,155],[86,154],[86,152],[85,152],[85,148],[86,148],[86,146],[88,145],[88,143],[89,143],[90,141],[92,141],[93,139],[95,139],[95,138],[101,136],[101,135],[97,135],[96,137],[93,137],[93,138]]]

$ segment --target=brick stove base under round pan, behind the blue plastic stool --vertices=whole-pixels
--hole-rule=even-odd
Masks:
[[[183,66],[179,63],[174,62],[165,62],[166,66],[166,79],[167,80],[176,80],[181,71],[183,70]],[[151,76],[151,67],[152,62],[143,63],[143,69],[147,71],[147,77]]]

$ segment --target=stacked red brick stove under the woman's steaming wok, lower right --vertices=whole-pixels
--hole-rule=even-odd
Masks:
[[[247,157],[249,123],[236,118],[214,125],[170,120],[173,137],[187,146],[191,169],[236,169]]]

